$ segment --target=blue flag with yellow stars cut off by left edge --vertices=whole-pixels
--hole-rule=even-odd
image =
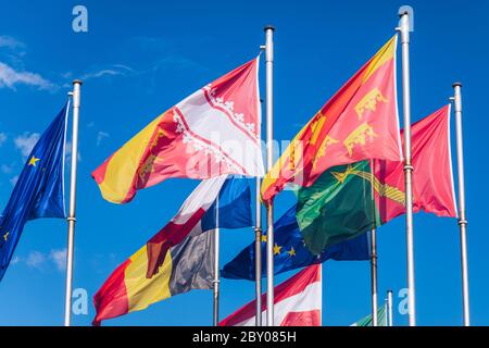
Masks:
[[[64,146],[66,104],[34,147],[0,215],[0,279],[28,220],[66,217]]]

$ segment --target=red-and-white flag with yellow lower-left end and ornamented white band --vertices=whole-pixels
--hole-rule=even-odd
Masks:
[[[263,176],[259,58],[199,89],[92,172],[102,196],[130,201],[170,177]]]

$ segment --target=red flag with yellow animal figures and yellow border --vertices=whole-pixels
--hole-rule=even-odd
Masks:
[[[402,157],[392,37],[299,132],[262,183],[271,202],[287,183],[311,186],[327,169]]]

